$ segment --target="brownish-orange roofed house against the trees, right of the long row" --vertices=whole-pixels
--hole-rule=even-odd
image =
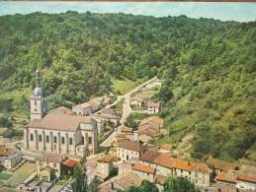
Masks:
[[[215,172],[215,174],[218,174],[221,171],[228,171],[230,169],[237,169],[237,163],[236,162],[228,162],[228,161],[224,161],[224,160],[216,160],[213,159],[212,157],[210,157],[207,161],[207,164],[209,167],[211,167],[213,169],[213,171]]]

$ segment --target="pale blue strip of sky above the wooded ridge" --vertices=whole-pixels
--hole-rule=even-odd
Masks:
[[[221,21],[256,21],[256,3],[207,2],[0,2],[0,16],[16,13],[126,13],[154,17],[186,15]]]

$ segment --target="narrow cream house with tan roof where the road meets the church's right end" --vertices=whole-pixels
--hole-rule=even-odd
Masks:
[[[113,169],[113,160],[114,158],[110,155],[105,155],[104,157],[97,160],[96,177],[98,179],[105,181],[106,178],[110,175],[110,172]]]

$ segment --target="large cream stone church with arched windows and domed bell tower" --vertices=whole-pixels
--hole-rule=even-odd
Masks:
[[[24,128],[23,150],[31,153],[56,153],[83,157],[98,150],[97,122],[89,116],[78,116],[61,106],[47,111],[47,98],[36,72],[36,88],[30,98],[31,122]]]

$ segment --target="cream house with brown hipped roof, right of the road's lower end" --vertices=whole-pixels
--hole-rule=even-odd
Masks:
[[[128,161],[131,158],[139,158],[146,149],[141,142],[132,142],[124,140],[117,147],[117,158],[122,161]]]

